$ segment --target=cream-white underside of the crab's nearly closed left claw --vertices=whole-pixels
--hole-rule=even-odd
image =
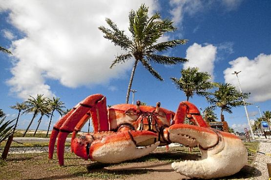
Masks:
[[[101,146],[92,154],[92,161],[116,163],[146,156],[156,149],[160,142],[137,148],[132,141],[116,142]]]

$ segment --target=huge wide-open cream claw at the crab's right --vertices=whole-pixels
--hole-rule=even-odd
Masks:
[[[186,135],[198,142],[200,161],[173,162],[172,168],[190,178],[211,179],[233,175],[247,164],[245,145],[236,136],[212,128],[176,124],[168,128],[170,141]]]

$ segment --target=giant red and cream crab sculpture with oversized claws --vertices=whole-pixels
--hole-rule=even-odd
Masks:
[[[76,138],[92,117],[94,132]],[[194,125],[183,124],[188,118]],[[171,123],[170,123],[171,122]],[[189,102],[177,112],[156,107],[120,104],[106,108],[106,98],[94,94],[85,98],[54,126],[49,143],[52,159],[56,139],[59,164],[64,164],[64,144],[72,133],[71,150],[85,160],[115,163],[147,155],[158,145],[171,142],[198,145],[200,161],[173,162],[172,168],[191,178],[218,178],[240,171],[247,163],[247,149],[236,136],[207,127],[199,110]],[[138,148],[140,146],[140,148]]]

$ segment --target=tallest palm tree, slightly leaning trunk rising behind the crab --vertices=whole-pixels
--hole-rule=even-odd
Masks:
[[[169,19],[161,19],[159,13],[155,13],[152,17],[148,17],[148,7],[144,4],[135,12],[131,10],[129,14],[129,28],[132,37],[124,34],[124,31],[118,29],[117,25],[109,18],[105,19],[109,25],[109,29],[100,26],[99,29],[104,33],[104,38],[111,40],[115,46],[120,46],[125,50],[125,54],[117,55],[110,68],[118,63],[124,63],[134,57],[134,65],[128,84],[126,103],[128,103],[130,90],[132,87],[133,77],[138,62],[146,68],[155,78],[163,81],[163,78],[156,72],[151,62],[165,65],[173,65],[180,62],[188,61],[181,57],[170,57],[161,55],[167,49],[174,48],[179,44],[185,44],[187,39],[176,39],[166,42],[157,43],[157,40],[167,32],[176,30],[173,21]]]

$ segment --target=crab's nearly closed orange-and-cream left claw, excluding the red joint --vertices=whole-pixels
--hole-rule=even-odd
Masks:
[[[91,161],[115,163],[140,158],[153,151],[160,142],[137,148],[137,144],[158,138],[150,131],[123,131],[94,141],[90,145]]]

